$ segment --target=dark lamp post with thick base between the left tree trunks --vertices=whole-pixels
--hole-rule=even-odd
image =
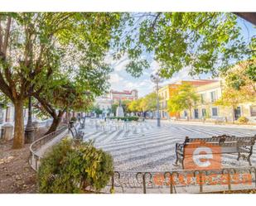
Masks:
[[[30,88],[31,93],[31,88]],[[25,128],[25,142],[31,143],[35,138],[35,128],[32,123],[32,97],[31,95],[28,98],[28,117],[27,117],[27,126]]]

